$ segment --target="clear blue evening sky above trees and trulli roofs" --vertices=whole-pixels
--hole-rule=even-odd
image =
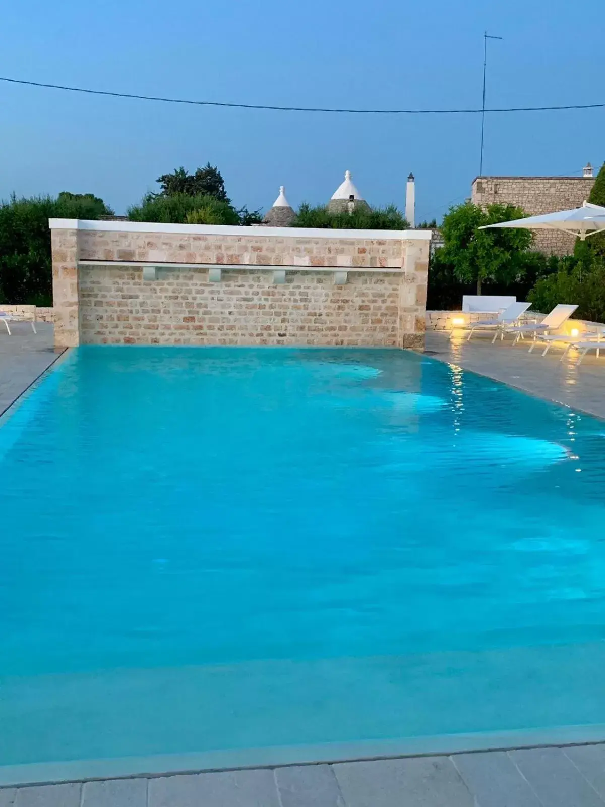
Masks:
[[[599,30],[600,27],[600,30]],[[567,0],[20,0],[0,26],[0,75],[202,100],[295,106],[478,107],[605,102],[603,21]],[[586,76],[594,80],[586,81]],[[478,174],[480,118],[244,111],[0,82],[0,197],[92,191],[125,211],[155,179],[219,165],[238,205],[326,202],[353,171],[373,204],[438,219]],[[605,110],[486,116],[484,174],[600,165]]]

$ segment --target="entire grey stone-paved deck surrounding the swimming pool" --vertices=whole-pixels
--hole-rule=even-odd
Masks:
[[[0,332],[0,413],[57,358],[52,325]],[[531,395],[605,417],[605,359],[559,362],[430,332],[427,350]],[[0,807],[605,807],[605,744],[136,776],[0,788]]]

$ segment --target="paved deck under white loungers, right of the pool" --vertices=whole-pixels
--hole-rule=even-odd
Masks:
[[[538,349],[529,353],[531,342],[512,346],[507,340],[491,344],[491,337],[478,335],[466,341],[463,332],[453,339],[443,332],[426,335],[428,355],[494,378],[538,398],[564,403],[582,412],[605,418],[605,350],[601,358],[592,353],[577,367],[576,353],[570,351],[563,362],[562,350],[551,348],[546,356]]]

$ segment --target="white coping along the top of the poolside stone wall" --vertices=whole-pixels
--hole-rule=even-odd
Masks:
[[[432,230],[329,230],[311,227],[244,227],[227,224],[158,224],[150,221],[49,219],[51,230],[163,232],[190,236],[269,236],[270,238],[341,238],[344,240],[430,241]]]

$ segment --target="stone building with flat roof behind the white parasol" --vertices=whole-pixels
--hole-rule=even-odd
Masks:
[[[476,177],[471,186],[471,201],[488,205],[496,202],[523,207],[527,215],[556,213],[581,207],[595,184],[590,162],[582,177]],[[549,255],[574,252],[575,238],[565,232],[534,232],[533,249]]]

